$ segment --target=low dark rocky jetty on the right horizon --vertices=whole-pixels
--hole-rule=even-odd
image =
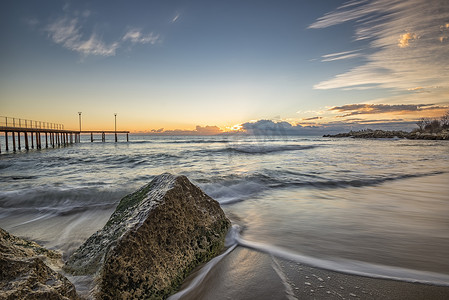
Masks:
[[[389,131],[389,130],[358,130],[350,131],[346,133],[338,134],[325,134],[323,137],[350,137],[350,138],[364,138],[364,139],[384,139],[384,138],[405,138],[412,140],[449,140],[449,132],[447,130],[442,130],[437,133],[430,132],[419,132],[419,131]]]

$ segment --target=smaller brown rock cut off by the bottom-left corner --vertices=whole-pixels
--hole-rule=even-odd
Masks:
[[[49,265],[61,255],[0,228],[0,299],[78,299],[75,287]]]

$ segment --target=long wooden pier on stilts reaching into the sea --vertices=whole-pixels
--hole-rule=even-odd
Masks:
[[[19,118],[0,117],[0,132],[5,134],[5,151],[22,149],[21,135],[23,135],[24,149],[30,150],[45,148],[64,147],[73,143],[81,142],[81,134],[90,133],[91,142],[94,141],[93,134],[101,133],[102,142],[106,141],[106,134],[113,133],[115,142],[117,142],[117,134],[126,134],[126,141],[129,141],[129,131],[108,131],[108,130],[66,130],[63,124],[48,123],[41,121],[25,120]],[[9,135],[11,133],[11,136]],[[11,144],[10,144],[11,140]],[[45,144],[44,144],[45,142]],[[0,143],[0,153],[2,152]]]

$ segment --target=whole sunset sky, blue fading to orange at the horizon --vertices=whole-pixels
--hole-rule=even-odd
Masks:
[[[66,129],[412,129],[449,110],[447,0],[5,0],[0,42],[0,115]]]

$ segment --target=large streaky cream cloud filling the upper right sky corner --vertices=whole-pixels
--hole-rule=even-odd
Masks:
[[[449,19],[447,0],[349,1],[320,17],[309,28],[326,28],[353,21],[355,40],[366,40],[364,63],[317,83],[315,89],[384,88],[404,95],[410,88],[449,82]],[[399,47],[398,47],[399,46]],[[328,61],[354,53],[323,57]],[[351,57],[347,57],[351,58]],[[435,102],[447,93],[430,90]],[[404,98],[402,99],[402,101]]]

